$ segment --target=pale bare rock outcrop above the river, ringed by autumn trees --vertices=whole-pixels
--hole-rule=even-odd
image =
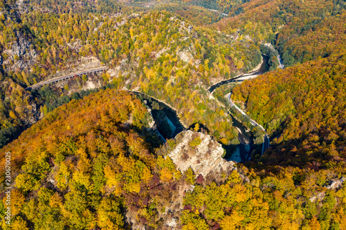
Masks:
[[[235,162],[228,162],[222,157],[224,148],[210,135],[193,131],[184,131],[181,135],[181,142],[168,154],[181,173],[190,167],[195,175],[203,177],[235,170]]]

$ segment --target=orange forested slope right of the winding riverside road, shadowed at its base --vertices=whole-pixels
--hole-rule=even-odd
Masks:
[[[275,137],[263,164],[345,166],[345,62],[343,52],[234,88],[233,99]]]

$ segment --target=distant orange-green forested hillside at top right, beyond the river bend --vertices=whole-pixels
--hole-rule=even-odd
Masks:
[[[255,41],[277,46],[285,66],[327,57],[345,44],[345,1],[249,1],[242,14],[217,23],[224,32],[236,28]],[[230,13],[232,15],[232,13]]]

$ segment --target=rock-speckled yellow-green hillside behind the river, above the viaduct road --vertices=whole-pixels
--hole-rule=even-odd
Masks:
[[[252,41],[232,44],[231,37],[168,12],[131,13],[119,7],[113,14],[57,14],[58,6],[52,12],[36,8],[21,15],[18,11],[18,22],[3,21],[1,132],[21,130],[42,115],[46,102],[35,98],[39,93],[25,92],[26,86],[71,71],[83,57],[96,57],[110,68],[103,76],[105,85],[162,99],[186,126],[200,122],[210,133],[217,131],[224,144],[235,138],[230,119],[224,119],[205,89],[260,62],[260,48]]]

